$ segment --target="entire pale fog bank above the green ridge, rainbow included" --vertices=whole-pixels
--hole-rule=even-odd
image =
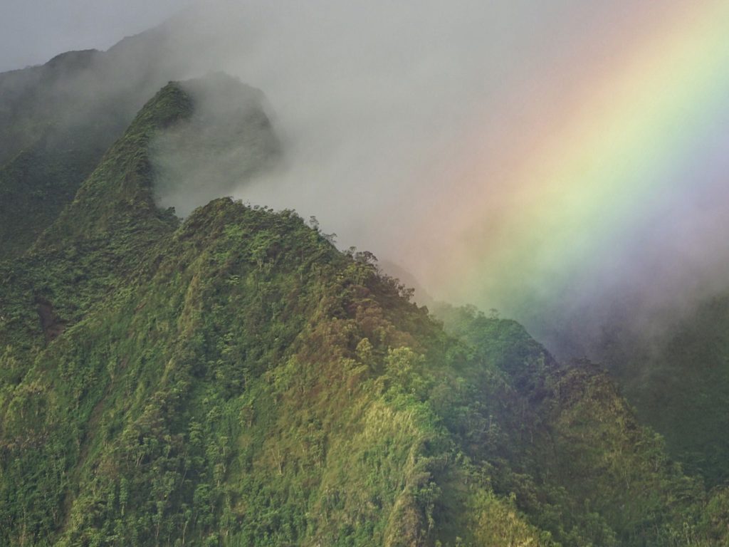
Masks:
[[[233,74],[275,107],[286,168],[225,193],[315,214],[435,298],[582,354],[566,331],[660,329],[726,287],[727,17],[717,0],[206,2],[90,55],[66,121]]]

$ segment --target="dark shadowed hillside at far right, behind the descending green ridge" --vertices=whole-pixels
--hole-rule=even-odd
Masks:
[[[717,296],[658,335],[610,333],[595,348],[666,437],[671,455],[710,485],[729,484],[729,298]]]

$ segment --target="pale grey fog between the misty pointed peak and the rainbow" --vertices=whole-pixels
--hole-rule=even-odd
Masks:
[[[237,195],[316,214],[343,245],[398,256],[440,238],[429,217],[443,195],[469,200],[465,171],[483,143],[509,154],[498,139],[549,130],[574,91],[552,74],[607,62],[599,39],[575,52],[580,37],[640,12],[574,0],[237,5],[206,5],[179,25],[202,45],[184,50],[190,76],[224,70],[260,88],[284,141],[289,171]]]

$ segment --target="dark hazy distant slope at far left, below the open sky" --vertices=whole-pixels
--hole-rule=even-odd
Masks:
[[[0,259],[55,220],[149,97],[202,73],[176,24],[0,74]]]

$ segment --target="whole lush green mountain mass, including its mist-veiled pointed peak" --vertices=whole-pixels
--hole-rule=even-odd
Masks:
[[[0,545],[729,545],[729,491],[595,365],[435,319],[295,212],[167,209],[276,162],[259,92],[170,82],[71,130],[7,98],[46,71],[0,78]]]

